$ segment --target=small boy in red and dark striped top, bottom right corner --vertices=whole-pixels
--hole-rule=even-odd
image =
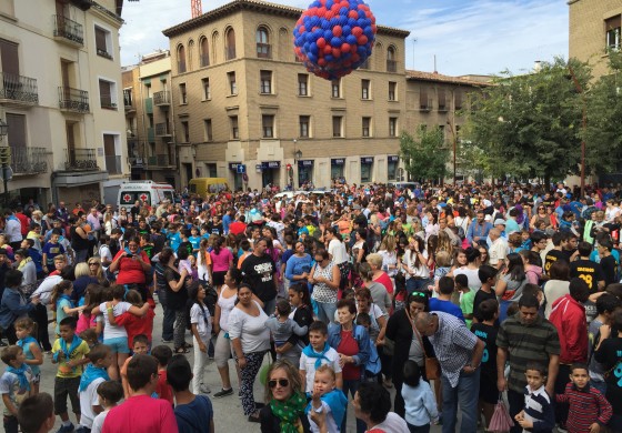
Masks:
[[[588,365],[582,363],[571,365],[570,383],[563,394],[555,395],[555,401],[569,405],[569,433],[599,432],[612,415],[611,404],[599,390],[590,386]]]

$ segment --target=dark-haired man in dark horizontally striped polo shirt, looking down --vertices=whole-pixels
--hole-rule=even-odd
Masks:
[[[503,321],[496,334],[496,386],[499,392],[508,390],[512,420],[524,407],[528,361],[548,365],[545,389],[549,395],[553,395],[555,387],[561,351],[560,339],[555,326],[538,313],[539,309],[538,298],[524,294],[519,301],[519,312]],[[505,380],[506,361],[510,363],[508,380]],[[522,427],[514,424],[510,432],[521,433]]]

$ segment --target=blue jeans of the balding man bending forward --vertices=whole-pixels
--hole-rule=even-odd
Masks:
[[[460,373],[458,386],[451,387],[449,380],[443,375],[441,386],[443,390],[443,433],[455,432],[458,421],[458,404],[462,412],[460,423],[461,433],[478,431],[478,396],[480,394],[480,370],[468,374]]]

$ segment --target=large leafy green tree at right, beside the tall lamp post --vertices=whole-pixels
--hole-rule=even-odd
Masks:
[[[589,67],[571,62],[585,88]],[[493,85],[471,94],[463,130],[486,155],[492,175],[549,181],[579,170],[582,97],[568,66],[556,58],[538,72],[512,75],[505,71]]]

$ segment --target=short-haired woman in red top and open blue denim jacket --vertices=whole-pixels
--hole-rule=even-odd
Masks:
[[[342,364],[343,393],[354,399],[354,394],[363,379],[365,364],[371,353],[371,340],[368,331],[354,324],[357,318],[357,305],[352,301],[341,300],[337,303],[337,315],[339,324],[329,328],[328,343],[339,353]],[[348,416],[343,416],[341,431],[345,432]],[[357,433],[363,433],[365,424],[357,419]]]

